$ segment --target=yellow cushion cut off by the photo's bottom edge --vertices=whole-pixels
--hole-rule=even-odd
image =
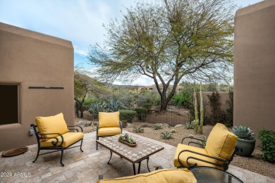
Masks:
[[[197,179],[193,173],[187,169],[162,169],[154,172],[138,174],[128,177],[120,177],[116,179],[98,180],[97,183],[195,183]]]

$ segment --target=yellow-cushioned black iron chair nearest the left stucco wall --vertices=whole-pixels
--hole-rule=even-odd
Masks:
[[[63,118],[63,113],[59,113],[54,116],[49,117],[37,117],[35,118],[35,122],[37,125],[32,124],[30,125],[33,127],[35,131],[35,136],[37,138],[37,156],[33,163],[37,160],[39,155],[47,154],[41,153],[39,154],[40,150],[56,150],[61,151],[61,158],[60,164],[64,166],[62,159],[63,159],[63,150],[71,149],[73,144],[81,141],[80,151],[82,151],[82,141],[83,141],[83,130],[82,127],[76,126],[67,126],[66,122]],[[79,132],[78,128],[71,128],[68,127],[78,127],[81,132]],[[37,131],[38,128],[38,131]],[[69,130],[75,130],[76,132],[69,132]],[[51,151],[48,153],[54,153],[56,151]],[[83,152],[83,151],[82,151]]]

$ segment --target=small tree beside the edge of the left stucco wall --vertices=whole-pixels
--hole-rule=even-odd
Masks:
[[[81,74],[80,71],[76,70],[74,75],[74,99],[77,103],[77,108],[80,111],[80,118],[83,117],[83,103],[89,93],[99,93],[100,82],[89,77],[88,75]]]

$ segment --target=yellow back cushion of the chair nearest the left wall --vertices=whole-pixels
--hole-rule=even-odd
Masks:
[[[50,134],[50,133],[59,133],[64,134],[68,132],[68,127],[63,118],[63,113],[58,115],[53,115],[49,117],[37,117],[35,118],[35,122],[40,134],[44,138],[56,137],[58,134]],[[47,139],[42,139],[42,141],[46,141]]]

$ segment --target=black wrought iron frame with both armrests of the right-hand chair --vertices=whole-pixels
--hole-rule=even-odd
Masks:
[[[197,138],[195,138],[195,137],[184,137],[183,140],[184,140],[184,139],[196,139],[196,140],[204,141],[204,140],[202,140],[202,139],[197,139]],[[181,141],[181,144],[183,144],[183,140]],[[204,142],[206,142],[206,141],[204,141]],[[190,141],[190,142],[188,143],[188,145],[189,145],[189,144],[197,144],[197,145],[200,145],[200,146],[203,146],[203,147],[205,146],[204,144],[197,143],[196,141]],[[228,170],[228,166],[229,166],[229,164],[231,163],[231,161],[233,160],[233,157],[235,156],[236,151],[238,151],[239,149],[240,149],[240,148],[238,148],[238,147],[236,146],[236,147],[235,147],[235,150],[233,151],[233,153],[232,153],[232,155],[231,155],[231,157],[228,158],[228,159],[216,158],[216,157],[214,157],[214,156],[209,156],[209,155],[206,155],[206,154],[203,154],[203,153],[197,153],[197,152],[195,152],[195,151],[183,150],[183,151],[181,151],[180,153],[178,153],[178,163],[180,163],[180,165],[181,165],[181,166],[178,167],[178,168],[188,168],[188,170],[191,170],[192,168],[197,167],[197,163],[192,164],[192,163],[188,162],[188,160],[194,159],[194,160],[202,161],[202,162],[204,162],[204,163],[209,163],[209,164],[212,164],[212,165],[219,166],[219,167],[221,167],[221,168],[224,168],[224,171],[226,171],[226,170]],[[185,165],[183,165],[183,163],[181,163],[181,160],[180,160],[180,155],[181,155],[181,153],[184,153],[184,152],[195,153],[195,154],[200,155],[200,156],[205,156],[205,157],[207,157],[207,158],[212,158],[212,159],[214,159],[214,160],[219,160],[219,161],[224,162],[224,164],[221,165],[221,164],[218,164],[218,163],[212,163],[212,162],[207,161],[207,160],[202,160],[202,159],[197,158],[197,157],[194,157],[194,156],[188,156],[188,158],[186,159],[186,163],[187,163],[190,167],[185,167]]]

